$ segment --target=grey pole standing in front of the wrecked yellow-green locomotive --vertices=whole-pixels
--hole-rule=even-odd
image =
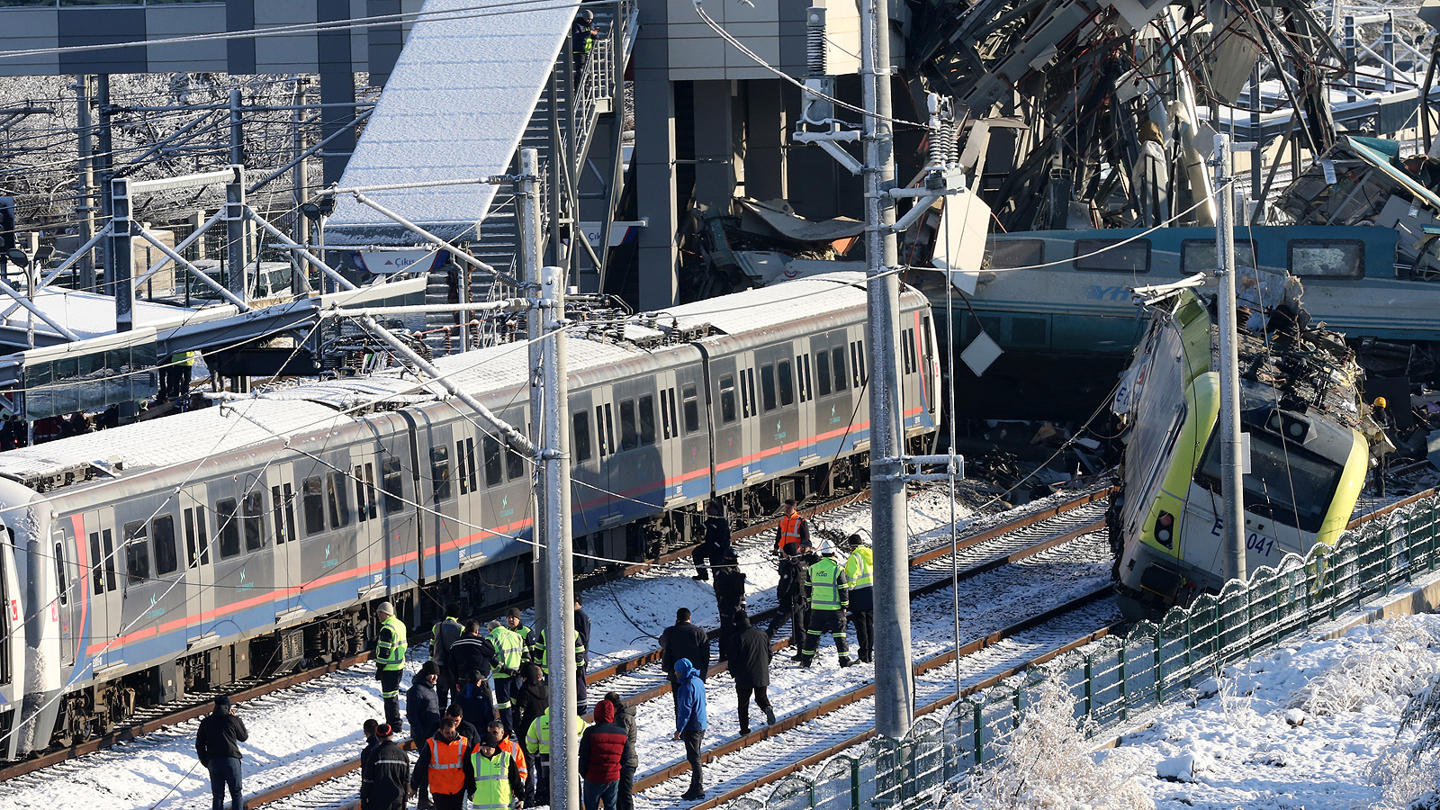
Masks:
[[[1240,434],[1240,337],[1236,329],[1236,190],[1230,176],[1230,137],[1215,135],[1215,275],[1220,277],[1220,493],[1221,543],[1231,579],[1246,578],[1244,457]]]

